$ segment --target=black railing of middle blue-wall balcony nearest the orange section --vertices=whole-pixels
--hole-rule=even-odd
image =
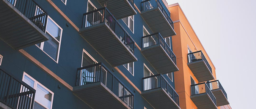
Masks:
[[[169,45],[166,43],[165,39],[163,39],[162,35],[161,35],[159,32],[141,37],[141,39],[142,39],[142,48],[146,48],[146,47],[143,46],[143,44],[144,44],[144,43],[143,43],[143,38],[150,37],[150,36],[153,36],[153,35],[159,35],[158,44],[155,44],[155,45],[160,45],[160,46],[162,46],[162,45],[160,44],[160,38],[161,38],[162,41],[165,43],[165,46],[167,46],[167,48],[169,48],[171,54],[173,54],[173,56],[174,56],[175,59],[176,59],[176,55],[173,53],[173,50],[171,50],[171,48],[169,47]],[[148,47],[150,47],[150,46],[148,46]],[[163,49],[165,50],[165,47],[163,47]],[[169,55],[169,56],[170,56],[170,55]],[[172,57],[170,56],[170,58],[172,58]],[[173,60],[173,61],[174,61],[174,60]],[[174,63],[176,64],[176,61],[175,61]]]

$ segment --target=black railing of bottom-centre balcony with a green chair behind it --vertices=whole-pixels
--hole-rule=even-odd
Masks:
[[[103,63],[77,69],[76,86],[101,82],[133,109],[134,95],[117,79]],[[90,98],[89,98],[90,99]]]

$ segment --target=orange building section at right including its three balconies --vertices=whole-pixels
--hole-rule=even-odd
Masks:
[[[173,52],[179,71],[174,72],[181,109],[232,109],[215,66],[178,3],[168,6],[174,30]]]

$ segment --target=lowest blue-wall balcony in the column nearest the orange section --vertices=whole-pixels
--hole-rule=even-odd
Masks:
[[[179,95],[162,74],[144,77],[141,95],[155,109],[181,109]]]

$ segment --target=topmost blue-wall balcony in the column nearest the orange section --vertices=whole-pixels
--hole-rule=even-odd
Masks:
[[[152,32],[160,32],[163,38],[176,35],[173,21],[159,0],[145,0],[141,2],[141,17],[148,24]]]

